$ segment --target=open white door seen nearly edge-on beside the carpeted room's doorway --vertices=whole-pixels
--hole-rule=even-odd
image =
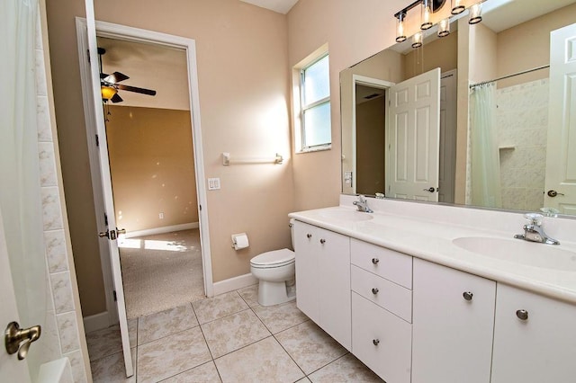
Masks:
[[[102,112],[102,95],[100,94],[100,68],[98,67],[98,53],[96,42],[96,26],[94,21],[94,4],[92,0],[85,1],[86,23],[88,31],[88,47],[90,50],[90,74],[92,76],[92,89],[94,99],[94,117],[96,120],[96,131],[100,140],[99,156],[100,171],[103,183],[104,210],[108,217],[108,228],[105,233],[108,236],[108,245],[110,248],[110,263],[112,266],[112,280],[114,290],[116,291],[116,304],[118,307],[118,319],[120,323],[120,333],[122,341],[122,352],[124,353],[124,367],[126,376],[134,374],[132,366],[132,357],[130,355],[130,337],[128,334],[128,321],[126,319],[126,306],[124,304],[124,288],[122,285],[120,253],[118,251],[118,231],[116,227],[116,218],[114,214],[114,203],[112,199],[112,181],[110,176],[110,167],[108,159],[108,143],[106,141],[106,127],[104,125]],[[98,233],[94,233],[94,236]]]

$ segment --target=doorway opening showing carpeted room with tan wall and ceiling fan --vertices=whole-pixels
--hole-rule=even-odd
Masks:
[[[190,102],[182,81],[187,60],[184,49],[97,42],[101,76],[115,74],[110,79],[120,79],[117,84],[139,87],[122,86],[103,104],[114,218],[126,231],[118,241],[132,319],[205,297]]]

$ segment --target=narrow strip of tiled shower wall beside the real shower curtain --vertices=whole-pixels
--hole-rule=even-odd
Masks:
[[[40,16],[36,28],[36,102],[38,121],[38,153],[40,156],[40,192],[46,262],[49,272],[49,313],[42,335],[50,358],[67,357],[76,383],[86,382],[84,358],[76,321],[75,299],[68,264],[67,239],[58,186],[55,143],[52,138],[46,67],[42,44]],[[53,302],[53,304],[52,304]]]

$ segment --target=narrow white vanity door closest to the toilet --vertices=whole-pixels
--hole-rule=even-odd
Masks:
[[[294,222],[294,253],[296,257],[296,306],[320,325],[320,278],[318,275],[320,237],[316,227]]]

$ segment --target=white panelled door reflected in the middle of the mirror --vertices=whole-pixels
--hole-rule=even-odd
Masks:
[[[438,200],[440,68],[390,89],[390,183],[386,195]]]

